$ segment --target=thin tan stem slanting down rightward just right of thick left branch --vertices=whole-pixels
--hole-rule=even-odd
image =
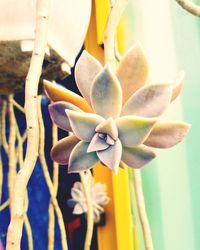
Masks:
[[[56,199],[56,192],[53,186],[53,183],[51,181],[51,177],[48,171],[48,166],[46,163],[45,155],[44,155],[44,141],[45,141],[45,131],[44,131],[44,124],[43,124],[43,119],[42,119],[42,111],[41,111],[41,96],[38,98],[38,121],[39,121],[39,128],[40,128],[40,144],[39,144],[39,158],[40,158],[40,163],[43,169],[44,177],[49,189],[49,193],[51,196],[51,203],[55,209],[57,218],[58,218],[58,225],[60,228],[60,234],[61,234],[61,244],[62,244],[62,250],[67,250],[67,237],[66,237],[66,232],[65,232],[65,224],[63,221],[62,213],[60,210],[60,207],[58,205],[58,201]]]

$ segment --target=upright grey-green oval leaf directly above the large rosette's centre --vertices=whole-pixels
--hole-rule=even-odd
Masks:
[[[109,65],[95,77],[91,87],[91,104],[98,115],[104,118],[119,116],[122,107],[122,90],[116,75]]]

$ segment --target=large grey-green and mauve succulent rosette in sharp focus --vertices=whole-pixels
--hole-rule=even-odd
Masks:
[[[68,164],[70,173],[92,168],[98,161],[116,174],[119,166],[141,168],[188,132],[184,122],[160,121],[180,93],[183,75],[173,84],[146,84],[148,63],[139,44],[125,53],[116,73],[84,51],[75,67],[82,97],[44,81],[52,121],[73,134],[60,140],[52,159]]]

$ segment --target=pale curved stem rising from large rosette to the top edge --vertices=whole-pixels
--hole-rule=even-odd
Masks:
[[[105,63],[109,63],[113,69],[116,68],[115,60],[115,36],[120,18],[127,6],[128,0],[118,0],[111,9],[104,33]]]

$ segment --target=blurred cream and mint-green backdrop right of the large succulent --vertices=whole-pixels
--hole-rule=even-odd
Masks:
[[[189,134],[174,148],[157,150],[157,159],[142,170],[142,178],[155,250],[198,250],[200,19],[176,1],[130,0],[124,21],[126,48],[141,41],[150,60],[150,82],[172,82],[185,71],[181,97],[163,119],[190,123]]]

